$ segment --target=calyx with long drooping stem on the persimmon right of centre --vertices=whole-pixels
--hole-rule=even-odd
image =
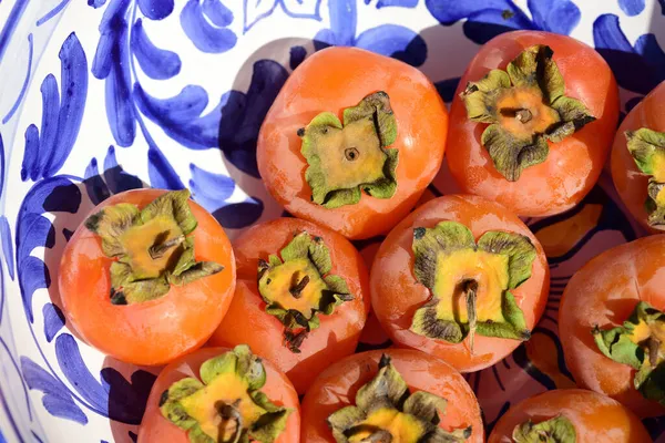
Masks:
[[[411,331],[451,343],[473,334],[528,340],[524,313],[509,289],[531,277],[535,247],[520,234],[487,231],[478,244],[457,222],[413,229],[416,278],[432,298],[416,310]]]

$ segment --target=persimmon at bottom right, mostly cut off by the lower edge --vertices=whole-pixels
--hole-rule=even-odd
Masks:
[[[561,389],[523,400],[497,422],[488,443],[648,443],[640,421],[596,392]]]

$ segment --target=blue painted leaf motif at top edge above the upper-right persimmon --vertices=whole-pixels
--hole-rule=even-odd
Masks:
[[[426,0],[430,13],[443,25],[467,19],[464,35],[478,44],[515,29],[570,34],[580,23],[580,9],[570,0],[529,0],[530,19],[510,0]]]

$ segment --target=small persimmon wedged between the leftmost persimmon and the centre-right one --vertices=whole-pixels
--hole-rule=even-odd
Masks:
[[[248,344],[304,393],[358,344],[369,312],[362,257],[341,235],[296,218],[255,225],[234,247],[236,292],[209,343]]]

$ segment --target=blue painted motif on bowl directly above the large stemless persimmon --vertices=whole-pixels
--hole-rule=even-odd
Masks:
[[[357,47],[382,55],[392,56],[419,66],[427,59],[427,44],[416,32],[398,24],[381,24],[356,35],[358,11],[356,0],[328,3],[330,28],[314,38],[314,48]]]

